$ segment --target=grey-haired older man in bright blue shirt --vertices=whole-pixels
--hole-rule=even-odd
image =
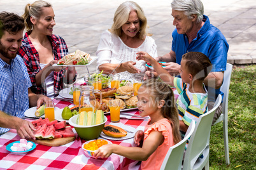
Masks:
[[[164,68],[170,74],[178,74],[183,54],[196,51],[208,56],[213,69],[204,79],[204,84],[208,86],[208,110],[211,110],[218,94],[223,95],[220,86],[226,69],[229,44],[222,32],[211,25],[208,16],[204,15],[204,6],[200,0],[173,0],[171,8],[173,25],[176,27],[172,34],[172,48],[169,53],[156,60],[170,62],[164,64]],[[221,112],[220,106],[215,112],[213,122]]]

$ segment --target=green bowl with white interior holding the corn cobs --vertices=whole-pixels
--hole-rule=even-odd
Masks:
[[[76,124],[76,119],[78,115],[74,115],[69,119],[69,124],[73,126],[76,130],[76,133],[80,138],[83,138],[84,140],[95,140],[99,138],[99,135],[103,131],[103,128],[105,126],[106,121],[108,120],[106,116],[104,115],[104,122],[101,124],[93,125],[93,126],[82,126]]]

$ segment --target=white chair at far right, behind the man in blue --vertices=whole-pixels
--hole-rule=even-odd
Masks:
[[[229,138],[228,138],[228,127],[227,127],[227,106],[229,102],[229,85],[231,83],[231,72],[233,65],[227,63],[226,70],[224,71],[224,81],[220,87],[220,91],[224,93],[223,102],[222,102],[222,114],[218,117],[217,121],[213,124],[223,121],[223,136],[224,136],[224,147],[225,147],[225,160],[226,164],[229,164]]]

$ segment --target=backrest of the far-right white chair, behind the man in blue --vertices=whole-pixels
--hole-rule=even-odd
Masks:
[[[229,101],[229,85],[231,84],[231,72],[233,65],[227,63],[226,70],[224,72],[224,79],[220,91],[224,93],[223,103],[222,103],[222,113],[227,113],[227,105]]]

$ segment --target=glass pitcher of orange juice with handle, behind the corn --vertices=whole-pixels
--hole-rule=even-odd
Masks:
[[[99,93],[99,101],[97,101],[94,93]],[[102,101],[101,91],[94,89],[94,86],[82,86],[80,87],[80,97],[79,97],[79,113],[85,112],[95,112]]]

